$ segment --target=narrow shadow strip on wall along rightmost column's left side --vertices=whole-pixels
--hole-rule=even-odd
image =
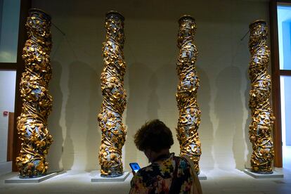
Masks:
[[[250,99],[250,78],[248,69],[245,71],[245,79],[247,80],[247,88],[245,89],[245,108],[247,109],[247,120],[245,122],[245,144],[247,145],[247,161],[245,162],[245,168],[250,168],[250,158],[252,156],[252,143],[249,138],[249,126],[252,121],[251,111],[249,108],[249,99]]]

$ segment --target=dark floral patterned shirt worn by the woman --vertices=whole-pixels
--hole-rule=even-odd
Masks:
[[[174,153],[138,170],[131,179],[129,193],[170,193],[176,161],[178,169],[171,193],[173,190],[179,190],[179,193],[190,193],[193,184],[190,165],[186,159],[176,157]]]

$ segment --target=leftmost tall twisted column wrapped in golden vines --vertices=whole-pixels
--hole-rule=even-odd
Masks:
[[[28,39],[22,53],[25,60],[20,82],[22,112],[17,122],[22,140],[20,155],[16,158],[20,178],[46,174],[46,155],[53,141],[47,129],[52,105],[52,97],[48,94],[48,82],[51,79],[51,17],[38,9],[31,9],[29,14],[26,22]]]

